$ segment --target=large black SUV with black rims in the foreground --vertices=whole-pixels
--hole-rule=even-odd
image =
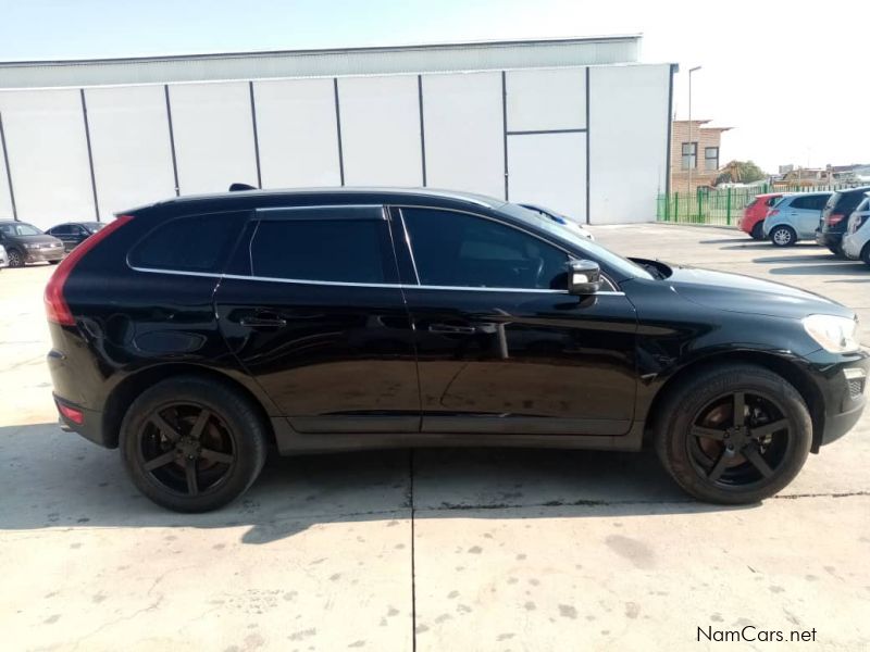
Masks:
[[[646,442],[693,496],[754,502],[866,402],[843,305],[473,195],[157,203],[74,249],[46,306],[62,422],[178,511],[239,496],[270,444]]]

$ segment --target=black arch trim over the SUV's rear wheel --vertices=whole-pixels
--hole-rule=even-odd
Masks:
[[[251,402],[262,417],[263,426],[269,432],[269,438],[271,442],[274,443],[275,432],[269,413],[263,406],[263,401],[254,391],[246,387],[245,384],[210,367],[189,363],[166,363],[149,366],[127,376],[109,393],[102,416],[102,428],[109,448],[117,448],[121,422],[124,419],[127,406],[133,403],[136,397],[161,380],[178,376],[206,378],[214,383],[220,383],[244,396]]]

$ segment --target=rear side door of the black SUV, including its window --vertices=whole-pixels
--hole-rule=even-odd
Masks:
[[[419,430],[413,330],[381,205],[258,210],[227,272],[221,329],[296,430]]]

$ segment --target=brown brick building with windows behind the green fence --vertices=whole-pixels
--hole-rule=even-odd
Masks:
[[[673,121],[671,134],[671,191],[694,192],[716,184],[722,133],[731,127],[705,127],[709,120]]]

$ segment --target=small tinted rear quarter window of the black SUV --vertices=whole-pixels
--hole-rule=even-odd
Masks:
[[[220,272],[248,213],[212,213],[170,220],[129,253],[134,267]]]

